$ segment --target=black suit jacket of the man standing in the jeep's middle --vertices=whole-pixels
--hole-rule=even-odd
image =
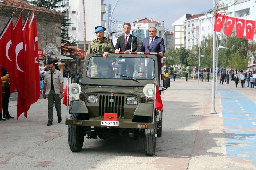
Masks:
[[[115,46],[115,50],[120,48],[120,51],[126,51],[126,50],[131,51],[131,39],[132,39],[132,35],[130,34],[129,39],[126,43],[126,47],[125,47],[125,36],[122,35],[122,36],[118,37],[117,43]],[[137,43],[138,43],[137,37],[133,36],[132,52],[135,52],[137,50]]]

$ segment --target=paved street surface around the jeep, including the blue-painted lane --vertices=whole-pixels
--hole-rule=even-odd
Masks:
[[[46,126],[48,103],[39,99],[27,119],[0,122],[0,169],[256,169],[255,89],[220,85],[218,114],[209,114],[211,82],[199,83],[176,79],[164,92],[163,135],[154,156],[145,156],[143,139],[126,137],[85,138],[82,151],[72,153],[64,121],[57,123],[55,113],[53,126]],[[16,109],[10,102],[12,116]]]

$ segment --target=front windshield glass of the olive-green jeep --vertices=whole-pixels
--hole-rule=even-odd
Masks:
[[[92,56],[88,60],[86,77],[91,79],[153,80],[155,62],[146,57]]]

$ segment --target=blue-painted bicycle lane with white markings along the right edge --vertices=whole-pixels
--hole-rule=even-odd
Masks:
[[[256,167],[256,104],[244,94],[220,87],[226,152],[239,161],[251,161]],[[255,92],[254,90],[252,92]]]

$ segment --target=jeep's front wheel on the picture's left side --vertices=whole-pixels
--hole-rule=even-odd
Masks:
[[[70,119],[77,119],[78,115],[79,115],[78,113],[73,113],[71,114]],[[84,143],[84,133],[82,132],[82,127],[69,125],[67,136],[68,136],[68,144],[69,144],[70,150],[72,152],[81,151]]]

